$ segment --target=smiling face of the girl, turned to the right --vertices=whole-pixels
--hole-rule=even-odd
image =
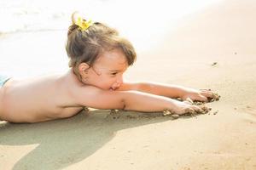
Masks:
[[[87,74],[87,84],[104,90],[115,90],[123,83],[123,73],[128,64],[120,49],[102,53]]]

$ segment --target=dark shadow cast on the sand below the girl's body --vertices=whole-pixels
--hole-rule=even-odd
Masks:
[[[32,124],[4,123],[0,144],[38,144],[15,163],[17,169],[61,169],[82,161],[113,139],[121,129],[172,120],[158,113],[120,111],[119,118],[109,111],[80,112],[71,118]]]

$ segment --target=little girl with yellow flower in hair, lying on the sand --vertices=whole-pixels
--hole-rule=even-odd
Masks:
[[[214,98],[195,90],[153,82],[124,82],[123,73],[137,57],[131,42],[100,22],[72,16],[67,32],[71,69],[62,75],[16,80],[0,77],[0,120],[44,122],[74,116],[83,108],[125,111],[200,112],[187,100]],[[176,98],[183,99],[178,101]]]

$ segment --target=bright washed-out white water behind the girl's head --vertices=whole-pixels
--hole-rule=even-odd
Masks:
[[[184,16],[220,0],[1,0],[0,74],[38,76],[67,70],[65,42],[71,14],[107,23],[143,53],[177,29]]]

